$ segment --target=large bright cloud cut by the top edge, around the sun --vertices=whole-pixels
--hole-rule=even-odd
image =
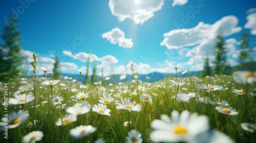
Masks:
[[[119,21],[130,18],[140,25],[152,18],[162,6],[163,0],[110,0],[109,2],[111,13],[117,16]]]

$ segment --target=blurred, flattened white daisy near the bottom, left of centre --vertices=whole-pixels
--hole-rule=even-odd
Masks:
[[[88,126],[80,125],[74,129],[71,129],[70,135],[73,136],[74,138],[78,139],[83,136],[88,136],[95,131],[96,131],[96,128],[94,128],[91,125],[88,125]]]

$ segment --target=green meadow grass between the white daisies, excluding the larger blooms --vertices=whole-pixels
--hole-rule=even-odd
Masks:
[[[49,80],[49,78],[48,78]],[[116,80],[116,79],[110,79]],[[207,115],[209,120],[209,125],[211,129],[217,129],[229,135],[236,142],[255,142],[256,134],[245,131],[241,128],[241,123],[252,123],[256,122],[256,97],[255,97],[255,83],[254,84],[239,84],[233,81],[232,76],[221,76],[216,75],[214,77],[199,78],[193,77],[183,77],[177,78],[177,81],[183,81],[186,84],[180,86],[179,89],[175,84],[170,82],[175,80],[175,77],[169,77],[163,79],[156,83],[147,83],[146,80],[142,82],[136,81],[132,82],[122,82],[120,85],[109,85],[109,81],[104,81],[105,84],[86,85],[87,88],[79,88],[78,82],[61,80],[60,83],[65,83],[65,85],[60,85],[60,83],[53,85],[52,94],[53,96],[63,97],[62,104],[66,104],[70,101],[69,106],[73,106],[76,103],[81,103],[80,100],[72,101],[71,97],[76,96],[76,93],[72,92],[72,88],[77,88],[77,91],[90,92],[89,98],[84,101],[88,101],[91,106],[98,104],[98,100],[103,95],[112,94],[112,97],[116,101],[123,98],[130,98],[131,101],[135,101],[137,104],[142,105],[142,110],[140,112],[132,111],[130,112],[130,118],[132,124],[130,127],[124,127],[123,123],[129,120],[129,111],[127,110],[117,110],[115,102],[107,105],[108,109],[111,110],[111,116],[101,115],[96,125],[95,122],[98,117],[97,112],[93,112],[92,109],[87,114],[82,114],[77,116],[77,121],[71,123],[67,126],[56,126],[59,117],[65,116],[67,113],[65,109],[57,108],[51,105],[51,88],[48,85],[41,85],[41,80],[37,77],[35,81],[35,111],[33,118],[33,108],[34,102],[29,102],[23,106],[23,110],[29,111],[29,118],[26,122],[14,129],[8,130],[8,142],[20,142],[26,134],[32,131],[41,131],[44,133],[44,137],[39,142],[86,142],[90,140],[94,142],[98,138],[102,138],[106,142],[125,142],[127,132],[132,129],[139,131],[142,135],[143,142],[151,142],[150,133],[151,122],[155,119],[159,119],[162,114],[170,116],[172,111],[177,110],[182,112],[184,109],[190,111],[190,113],[197,112],[199,115]],[[27,85],[33,83],[33,79],[27,80],[10,80],[8,82],[8,98],[13,98],[13,93],[18,90],[19,86]],[[197,89],[198,84],[216,84],[222,85],[225,90],[217,90],[212,92],[206,92],[205,89]],[[157,87],[157,85],[164,84],[165,87]],[[2,82],[1,97],[4,97],[4,82]],[[145,87],[144,91],[140,91],[138,86]],[[245,94],[240,97],[240,107],[239,107],[239,96],[231,92],[231,89],[244,89]],[[102,91],[103,89],[103,91]],[[191,98],[189,102],[181,103],[179,101],[175,104],[176,92],[194,92],[196,93],[195,98]],[[26,93],[34,92],[34,90],[26,91]],[[131,92],[136,92],[136,96],[130,96]],[[156,93],[157,96],[153,96],[152,93]],[[253,93],[254,92],[254,93]],[[152,103],[145,103],[140,100],[140,96],[145,94],[150,94],[153,97]],[[252,96],[254,94],[254,97]],[[199,97],[208,97],[212,101],[216,102],[218,100],[226,100],[231,107],[239,110],[239,115],[224,115],[219,113],[215,107],[216,104],[205,104],[199,101]],[[1,103],[4,102],[4,98],[0,99]],[[42,102],[48,101],[48,103],[43,104]],[[67,108],[67,107],[66,107]],[[183,109],[184,108],[184,109]],[[13,111],[18,111],[20,105],[9,105],[9,114]],[[4,114],[3,106],[1,107],[1,117]],[[30,122],[38,120],[35,126],[30,128],[26,127]],[[92,125],[96,127],[96,131],[80,139],[74,139],[70,136],[70,130],[80,126],[80,125]],[[4,139],[3,130],[0,135],[1,140]]]

